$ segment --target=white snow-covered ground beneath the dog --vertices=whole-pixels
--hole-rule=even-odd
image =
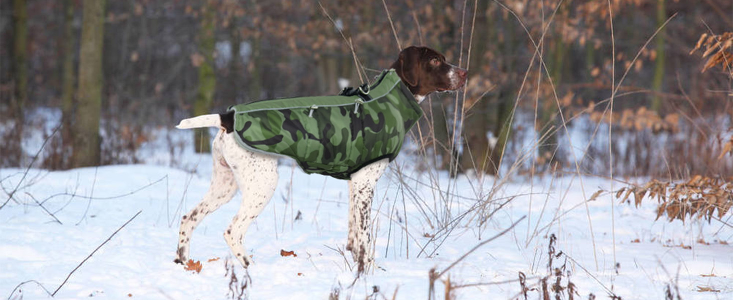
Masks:
[[[551,234],[557,236],[556,252],[563,252],[553,266],[570,272],[580,299],[589,293],[597,299],[610,293],[622,299],[665,299],[667,286],[685,300],[733,299],[733,229],[721,222],[655,222],[655,201],[634,208],[605,194],[586,206],[584,199],[594,192],[611,189],[606,179],[449,179],[445,173],[413,170],[408,155],[379,181],[372,211],[376,267],[356,281],[350,254],[340,252],[347,235],[346,181],[306,175],[287,162],[280,167],[275,197],[246,236],[254,266],[245,271],[231,260],[222,236],[238,209],[237,195],[196,229],[191,258],[201,260],[203,268],[185,271],[173,263],[178,224],[206,192],[212,162],[190,151],[180,155],[179,165],[194,173],[157,165],[31,169],[27,176],[24,169],[0,169],[5,191],[0,204],[19,186],[14,200],[0,209],[0,297],[48,298],[44,288],[56,290],[141,211],[70,276],[54,299],[231,299],[230,289],[243,281],[249,299],[328,299],[334,289],[340,299],[364,299],[375,290],[372,299],[428,299],[431,269],[446,269],[525,216],[436,281],[438,299],[448,277],[453,285],[471,285],[517,280],[522,272],[526,285],[537,288],[539,277],[550,274]],[[489,198],[490,206],[476,209]],[[449,233],[441,230],[452,220]],[[281,250],[298,256],[281,256]],[[238,280],[233,285],[232,266]],[[567,277],[561,285],[567,286]],[[701,291],[707,288],[719,291]],[[454,288],[456,299],[523,299],[520,291],[516,281]],[[529,291],[528,299],[541,296]]]

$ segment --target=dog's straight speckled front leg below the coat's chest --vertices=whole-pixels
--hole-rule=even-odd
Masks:
[[[371,164],[351,174],[349,181],[349,237],[346,250],[351,251],[363,272],[374,260],[372,247],[372,198],[377,180],[389,163],[388,159]]]

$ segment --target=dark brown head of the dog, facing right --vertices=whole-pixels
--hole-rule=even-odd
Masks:
[[[468,77],[468,71],[449,64],[443,54],[427,47],[405,48],[392,68],[418,101],[433,91],[460,89]]]

